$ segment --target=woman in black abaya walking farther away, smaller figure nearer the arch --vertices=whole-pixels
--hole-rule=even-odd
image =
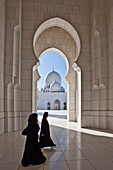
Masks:
[[[41,132],[40,132],[40,146],[43,147],[55,147],[50,137],[49,123],[47,121],[48,112],[44,112],[42,123],[41,123]]]

